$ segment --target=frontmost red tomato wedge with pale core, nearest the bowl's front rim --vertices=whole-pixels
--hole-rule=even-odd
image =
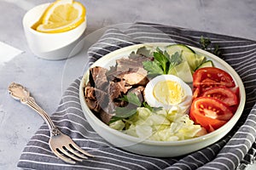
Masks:
[[[218,99],[199,97],[193,101],[189,116],[195,123],[212,132],[228,122],[233,113],[229,106]]]

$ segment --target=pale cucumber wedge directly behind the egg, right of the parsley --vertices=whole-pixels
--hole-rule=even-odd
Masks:
[[[174,69],[177,72],[177,77],[180,77],[184,82],[193,82],[192,73],[187,61],[183,61],[181,64],[176,65]]]

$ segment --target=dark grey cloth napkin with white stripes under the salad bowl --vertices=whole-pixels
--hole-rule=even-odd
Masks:
[[[67,88],[51,116],[63,133],[71,136],[95,158],[69,165],[55,157],[48,145],[49,129],[44,123],[28,142],[18,167],[26,169],[244,169],[256,153],[256,42],[173,26],[136,23],[125,30],[109,29],[89,49],[90,64],[115,49],[141,42],[177,42],[200,47],[201,36],[220,47],[223,59],[240,75],[247,101],[236,127],[217,143],[187,156],[157,158],[139,156],[108,144],[89,125],[79,104],[79,82]]]

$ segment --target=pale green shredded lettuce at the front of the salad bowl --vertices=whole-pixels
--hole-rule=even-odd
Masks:
[[[140,139],[157,141],[191,139],[207,133],[203,127],[195,125],[189,115],[181,114],[176,107],[169,111],[150,111],[148,108],[138,107],[133,116],[110,123],[109,126]]]

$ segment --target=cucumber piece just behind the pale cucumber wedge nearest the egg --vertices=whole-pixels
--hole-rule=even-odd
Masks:
[[[187,52],[187,51],[182,52],[182,57],[183,57],[183,59],[188,61],[189,66],[190,66],[192,71],[195,71],[195,69],[199,65],[201,65],[206,59],[206,57],[203,56],[203,55],[194,54],[194,53]]]

